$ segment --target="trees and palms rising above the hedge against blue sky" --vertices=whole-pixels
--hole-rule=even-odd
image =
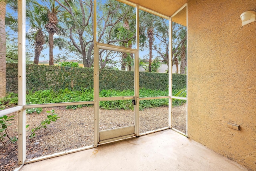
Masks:
[[[10,1],[12,10],[17,4]],[[42,52],[49,49],[49,64],[54,60],[68,58],[82,61],[84,67],[93,66],[94,37],[93,37],[93,0],[40,0],[27,1],[28,42],[34,47],[34,64],[42,58]],[[97,42],[136,48],[136,8],[116,0],[97,0]],[[169,30],[168,20],[139,11],[139,44],[142,53],[140,58],[149,62],[147,69],[152,71],[152,61],[169,64]],[[15,31],[16,18],[6,14],[6,23]],[[186,28],[173,23],[173,54],[172,65],[182,63],[185,67]],[[8,46],[10,47],[10,46]],[[62,52],[53,56],[54,47]],[[10,48],[11,49],[11,48]],[[64,52],[63,52],[64,51]],[[147,52],[147,53],[146,53]],[[185,53],[186,54],[186,53]],[[144,55],[144,56],[143,56]],[[8,55],[11,56],[11,55]],[[14,55],[12,55],[13,58]],[[118,57],[118,58],[117,58]],[[10,60],[9,60],[10,61]],[[121,52],[99,51],[100,68],[119,68],[131,70],[134,55]],[[119,64],[118,64],[119,63]],[[182,68],[180,69],[182,72]]]

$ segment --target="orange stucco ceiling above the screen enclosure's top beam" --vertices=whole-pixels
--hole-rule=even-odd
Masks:
[[[172,16],[188,0],[127,0],[166,16]]]

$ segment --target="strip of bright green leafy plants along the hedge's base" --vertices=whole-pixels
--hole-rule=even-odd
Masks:
[[[176,94],[178,90],[173,91]],[[41,104],[41,103],[61,103],[61,102],[74,102],[74,101],[93,101],[93,89],[81,89],[70,90],[70,89],[60,89],[58,91],[50,90],[39,90],[33,92],[29,91],[26,95],[27,104]],[[115,96],[129,96],[133,95],[132,90],[118,91],[114,89],[102,90],[99,93],[100,97],[115,97]],[[152,90],[152,89],[140,89],[140,97],[156,97],[156,96],[167,96],[168,90]],[[175,99],[172,101],[173,106],[182,105],[186,100]],[[0,100],[2,105],[15,105],[18,104],[18,94],[9,93],[6,97]],[[78,107],[84,107],[88,105],[70,105],[66,106],[67,109],[76,109]],[[140,110],[144,108],[168,106],[168,99],[151,99],[140,101]],[[115,101],[100,101],[100,108],[104,109],[134,109],[132,105],[132,100],[115,100]],[[27,113],[37,112],[39,113],[41,109],[30,109]]]

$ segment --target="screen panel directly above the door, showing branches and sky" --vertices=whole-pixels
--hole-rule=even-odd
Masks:
[[[97,42],[136,48],[136,8],[117,0],[98,1]]]

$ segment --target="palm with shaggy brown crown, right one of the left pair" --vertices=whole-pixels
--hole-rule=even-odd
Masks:
[[[45,28],[49,33],[49,65],[53,65],[53,48],[54,48],[54,40],[53,36],[55,33],[59,32],[57,27],[58,18],[57,15],[60,12],[59,5],[55,4],[54,0],[41,0],[42,4],[38,2],[34,2],[38,6],[38,10],[41,11],[43,14],[47,15],[47,22]],[[46,13],[44,13],[46,12]]]

